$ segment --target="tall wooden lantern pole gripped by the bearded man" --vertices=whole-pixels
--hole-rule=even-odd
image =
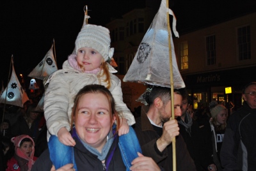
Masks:
[[[169,0],[166,0],[166,19],[167,19],[167,29],[168,29],[168,42],[169,42],[169,61],[170,61],[170,85],[171,85],[171,105],[172,105],[172,119],[175,119],[174,115],[174,94],[173,94],[173,68],[172,68],[172,45],[171,45],[171,29],[170,29],[170,19],[169,19]],[[176,171],[176,139],[172,139],[172,165],[173,171]]]

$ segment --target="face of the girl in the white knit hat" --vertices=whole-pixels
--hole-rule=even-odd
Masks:
[[[81,70],[92,71],[100,67],[103,61],[102,55],[94,48],[81,47],[77,50],[77,63]]]

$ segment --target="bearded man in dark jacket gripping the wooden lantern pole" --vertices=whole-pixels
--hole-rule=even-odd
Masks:
[[[179,135],[179,126],[176,119],[181,115],[182,96],[174,90],[174,111],[171,107],[170,89],[154,86],[148,95],[149,108],[141,109],[141,117],[136,119],[134,130],[145,156],[153,158],[159,167],[164,170],[173,168],[172,140],[176,140],[177,170],[196,170],[195,164],[186,148],[186,144]]]

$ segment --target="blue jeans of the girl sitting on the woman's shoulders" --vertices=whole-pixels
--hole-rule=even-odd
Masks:
[[[114,124],[113,130],[115,127],[116,125]],[[74,150],[72,147],[62,144],[55,135],[51,135],[48,147],[52,164],[56,170],[68,163],[74,163],[74,168],[77,170],[76,162],[74,160]],[[132,160],[138,157],[137,152],[141,152],[138,138],[131,126],[129,128],[129,133],[119,137],[118,147],[121,151],[126,170],[128,171],[132,166]]]

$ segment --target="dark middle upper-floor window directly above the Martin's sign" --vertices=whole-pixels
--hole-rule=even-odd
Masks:
[[[207,65],[216,64],[216,42],[215,35],[206,37]]]

